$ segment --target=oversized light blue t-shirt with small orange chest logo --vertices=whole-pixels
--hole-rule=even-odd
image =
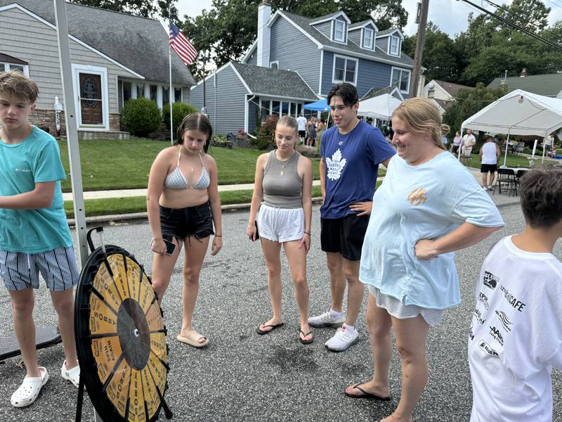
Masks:
[[[405,305],[427,309],[459,305],[455,253],[420,261],[414,246],[420,239],[445,236],[464,222],[504,225],[488,193],[459,160],[443,152],[412,166],[395,155],[374,193],[361,252],[360,281]]]

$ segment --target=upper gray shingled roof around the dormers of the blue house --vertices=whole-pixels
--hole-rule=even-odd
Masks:
[[[322,32],[316,30],[315,27],[313,27],[313,25],[310,25],[311,22],[314,22],[317,19],[304,18],[301,15],[295,15],[294,13],[289,13],[285,11],[282,11],[282,13],[286,15],[287,18],[289,18],[294,23],[296,23],[296,25],[299,25],[299,27],[301,27],[302,30],[304,30],[304,32],[311,35],[313,39],[315,39],[316,41],[320,42],[320,44],[323,44],[325,46],[333,47],[334,49],[344,50],[351,55],[360,54],[362,56],[370,56],[372,60],[377,60],[377,59],[390,60],[393,61],[394,63],[399,63],[410,68],[412,68],[414,65],[414,60],[412,60],[412,58],[406,56],[405,54],[402,54],[400,57],[396,57],[387,54],[386,51],[382,51],[381,49],[374,49],[374,51],[365,50],[360,48],[360,46],[358,46],[351,40],[348,40],[347,45],[341,44],[339,42],[334,42],[328,39],[328,37],[322,34]]]

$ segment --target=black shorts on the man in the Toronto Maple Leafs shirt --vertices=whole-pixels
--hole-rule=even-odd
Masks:
[[[363,238],[369,224],[369,216],[356,214],[338,219],[320,219],[320,245],[324,252],[338,252],[349,261],[361,259]]]

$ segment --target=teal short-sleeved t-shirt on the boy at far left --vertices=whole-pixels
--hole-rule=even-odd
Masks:
[[[72,246],[60,180],[66,179],[58,143],[33,127],[20,143],[0,140],[0,196],[33,191],[36,183],[56,181],[53,203],[39,210],[0,208],[0,250],[40,253]]]

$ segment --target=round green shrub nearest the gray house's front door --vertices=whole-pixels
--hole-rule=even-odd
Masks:
[[[147,136],[162,123],[157,104],[148,98],[131,98],[121,110],[123,124],[134,136]]]

